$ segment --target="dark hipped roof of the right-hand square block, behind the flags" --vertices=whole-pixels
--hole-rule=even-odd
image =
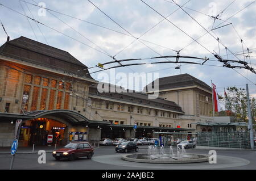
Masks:
[[[179,74],[179,75],[173,75],[169,77],[162,77],[162,78],[159,78],[158,81],[159,81],[159,90],[175,89],[175,88],[188,87],[188,86],[200,86],[204,89],[212,91],[212,88],[208,86],[207,83],[204,83],[203,81],[200,81],[199,79],[189,74]],[[154,82],[155,81],[151,82],[152,86],[154,86]],[[146,89],[147,86],[144,87],[144,89]]]

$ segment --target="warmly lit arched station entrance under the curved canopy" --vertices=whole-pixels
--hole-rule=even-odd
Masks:
[[[62,145],[65,132],[67,132],[67,125],[53,119],[42,117],[27,120],[22,124],[20,144],[23,146]],[[52,136],[52,140],[47,143],[48,136]]]

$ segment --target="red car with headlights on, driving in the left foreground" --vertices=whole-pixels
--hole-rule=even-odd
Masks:
[[[70,142],[64,148],[52,152],[55,159],[68,158],[70,161],[78,157],[92,158],[94,148],[88,142]]]

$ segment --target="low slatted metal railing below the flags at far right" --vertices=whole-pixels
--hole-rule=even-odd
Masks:
[[[250,149],[250,135],[249,132],[197,132],[196,144]]]

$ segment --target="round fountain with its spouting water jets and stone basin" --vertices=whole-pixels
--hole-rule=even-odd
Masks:
[[[158,151],[159,150],[159,151]],[[184,146],[177,146],[177,153],[174,154],[172,146],[169,148],[169,154],[164,150],[164,146],[157,148],[156,146],[148,146],[147,154],[128,154],[122,157],[125,161],[141,162],[141,163],[197,163],[207,162],[209,155],[188,154]]]

